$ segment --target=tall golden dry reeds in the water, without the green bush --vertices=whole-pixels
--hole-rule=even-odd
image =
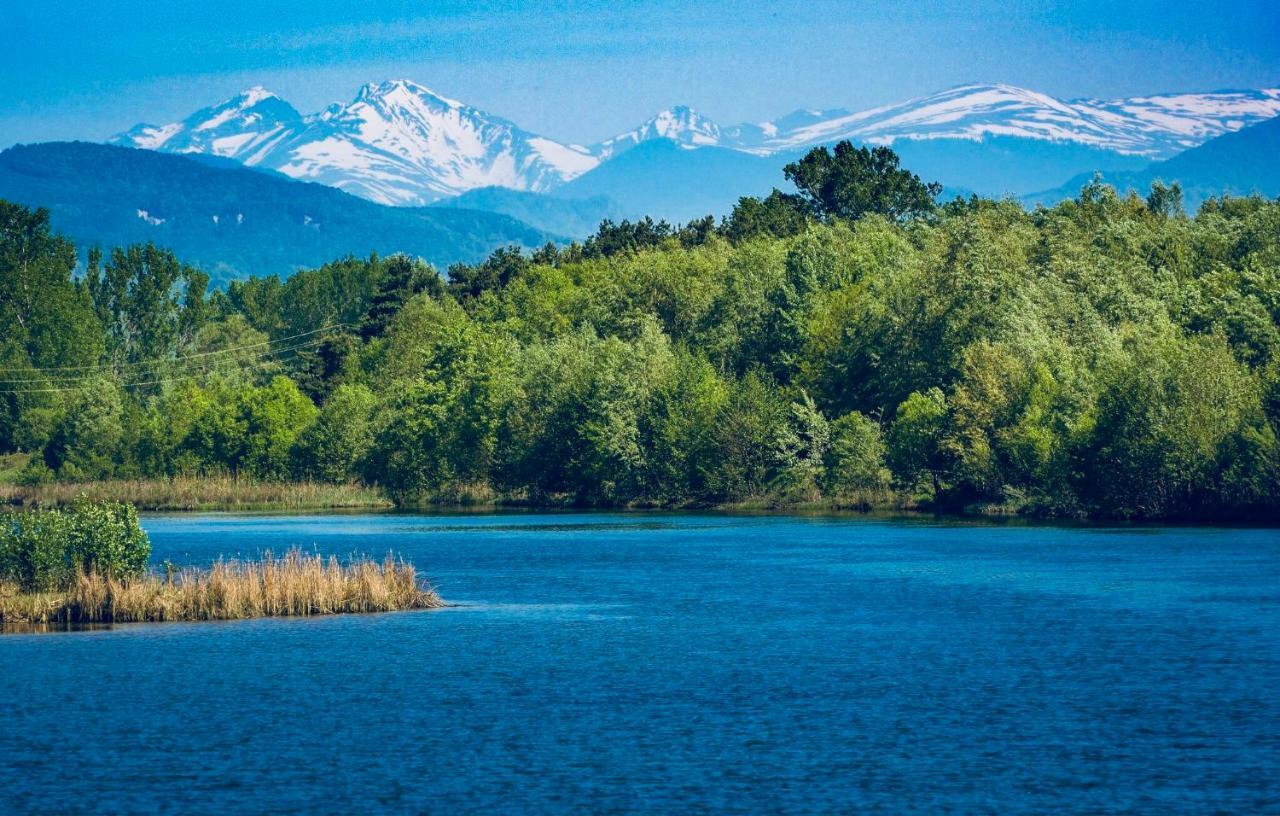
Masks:
[[[233,620],[443,605],[434,590],[419,582],[412,564],[392,555],[380,563],[340,563],[301,550],[124,581],[81,574],[64,592],[19,592],[12,585],[0,586],[0,624]]]

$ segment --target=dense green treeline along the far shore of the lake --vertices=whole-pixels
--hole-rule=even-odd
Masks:
[[[604,223],[440,276],[206,292],[0,210],[0,450],[29,481],[362,480],[402,504],[1280,510],[1280,203],[1101,184],[936,205],[887,148],[721,223]]]

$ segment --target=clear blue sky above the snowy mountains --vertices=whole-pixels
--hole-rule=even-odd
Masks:
[[[1280,1],[0,0],[0,147],[102,141],[261,84],[298,110],[408,78],[593,143],[965,82],[1064,98],[1280,86]]]

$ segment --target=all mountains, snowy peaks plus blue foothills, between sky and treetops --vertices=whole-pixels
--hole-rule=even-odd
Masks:
[[[1225,192],[1280,194],[1280,90],[1061,101],[960,86],[849,113],[800,110],[721,127],[672,107],[591,146],[567,145],[407,81],[300,114],[251,88],[116,146],[0,152],[0,198],[51,211],[82,247],[155,242],[215,283],[343,255],[410,252],[445,267],[534,247],[602,219],[686,221],[783,187],[814,145],[887,143],[943,197],[1074,197],[1180,182],[1189,208]]]

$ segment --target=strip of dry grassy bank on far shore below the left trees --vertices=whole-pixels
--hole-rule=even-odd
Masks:
[[[390,501],[365,485],[259,482],[230,476],[170,480],[111,480],[0,485],[0,501],[22,506],[68,506],[79,496],[127,501],[140,510],[315,510],[388,508]]]

